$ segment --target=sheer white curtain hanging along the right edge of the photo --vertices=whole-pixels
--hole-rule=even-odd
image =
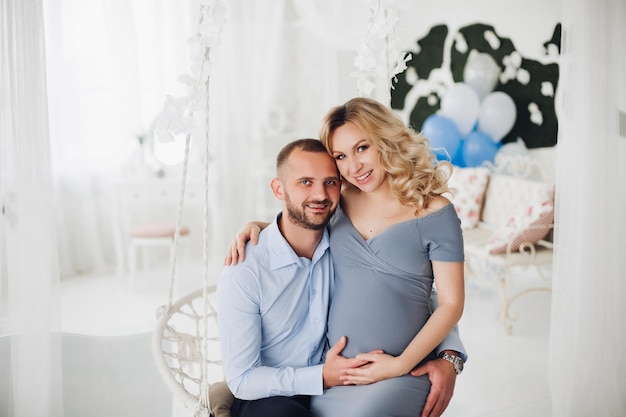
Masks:
[[[626,415],[625,25],[623,0],[563,0],[549,370],[555,417]]]

